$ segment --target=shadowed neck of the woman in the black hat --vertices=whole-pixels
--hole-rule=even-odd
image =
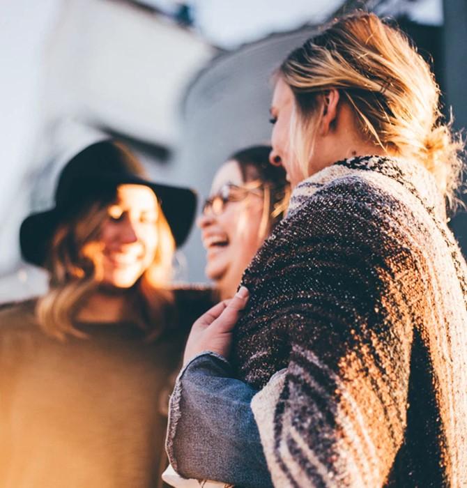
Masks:
[[[128,317],[128,292],[126,290],[98,289],[86,299],[77,313],[83,322],[117,322]]]

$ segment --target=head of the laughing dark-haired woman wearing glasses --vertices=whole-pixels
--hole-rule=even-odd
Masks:
[[[206,275],[220,299],[234,296],[243,270],[280,222],[289,200],[282,167],[273,167],[269,146],[238,151],[217,171],[198,219],[206,248]]]

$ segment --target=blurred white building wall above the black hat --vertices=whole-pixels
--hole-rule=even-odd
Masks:
[[[174,146],[178,103],[213,49],[128,2],[68,0],[47,50],[44,111]]]

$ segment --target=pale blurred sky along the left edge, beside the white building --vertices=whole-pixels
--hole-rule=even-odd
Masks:
[[[45,287],[45,275],[28,280],[18,268],[17,233],[29,208],[31,185],[25,181],[33,159],[40,120],[43,54],[62,0],[3,0],[0,15],[0,301],[21,298]],[[13,273],[10,279],[6,277]]]

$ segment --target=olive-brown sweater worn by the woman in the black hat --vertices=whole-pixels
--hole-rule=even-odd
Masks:
[[[147,342],[132,323],[81,323],[47,337],[33,300],[0,311],[0,486],[161,485],[171,381],[204,291],[176,291],[178,323]]]

